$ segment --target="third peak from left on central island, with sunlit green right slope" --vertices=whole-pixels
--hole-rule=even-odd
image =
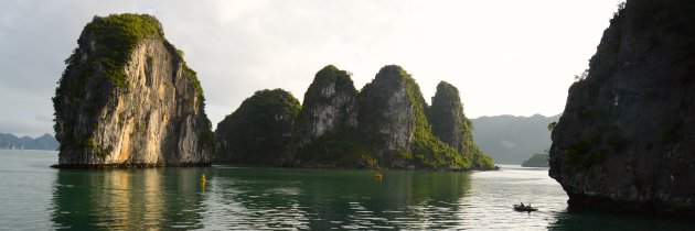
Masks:
[[[374,80],[364,86],[357,101],[360,132],[384,166],[469,169],[479,167],[472,156],[487,157],[480,151],[464,157],[432,134],[420,88],[399,66],[383,67]],[[481,168],[493,167],[490,157],[481,162],[488,162]]]

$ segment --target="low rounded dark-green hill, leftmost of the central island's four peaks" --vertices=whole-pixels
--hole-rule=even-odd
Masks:
[[[218,162],[274,164],[289,152],[301,106],[282,89],[259,90],[217,124]]]

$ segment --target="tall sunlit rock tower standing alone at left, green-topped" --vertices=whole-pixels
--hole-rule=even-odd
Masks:
[[[210,164],[203,91],[152,16],[95,16],[55,97],[60,166]]]

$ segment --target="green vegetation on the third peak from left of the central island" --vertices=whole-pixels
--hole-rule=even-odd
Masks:
[[[402,67],[396,65],[385,66],[376,75],[375,81],[386,81],[386,88],[389,89],[382,89],[372,82],[367,84],[360,94],[360,117],[363,118],[360,120],[360,127],[366,128],[367,135],[365,135],[365,138],[371,138],[375,141],[381,140],[383,142],[385,138],[383,138],[379,132],[374,131],[375,128],[379,128],[383,123],[387,122],[386,119],[388,118],[384,117],[384,114],[392,113],[384,112],[383,103],[388,103],[391,101],[388,97],[393,96],[388,95],[388,92],[398,91],[397,88],[405,87],[405,92],[407,94],[408,99],[407,103],[410,105],[410,107],[406,107],[406,111],[395,113],[407,113],[407,108],[411,109],[411,114],[407,114],[406,118],[410,118],[413,120],[413,139],[409,141],[409,148],[399,147],[397,150],[393,150],[392,152],[395,152],[395,155],[405,160],[408,164],[424,168],[490,169],[494,167],[490,157],[482,154],[482,152],[478,151],[478,148],[474,150],[474,153],[471,151],[472,155],[463,156],[461,153],[457,152],[453,146],[448,145],[434,135],[431,125],[426,114],[428,106],[423,98],[420,88],[415,79],[413,79],[413,77]],[[387,95],[384,95],[384,92],[387,92]],[[381,161],[394,162],[393,160],[384,157]]]

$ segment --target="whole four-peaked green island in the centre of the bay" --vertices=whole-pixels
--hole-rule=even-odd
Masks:
[[[319,70],[303,107],[282,89],[260,90],[215,131],[221,163],[403,169],[492,169],[472,141],[456,87],[432,106],[402,67],[383,67],[357,91],[345,70]]]

